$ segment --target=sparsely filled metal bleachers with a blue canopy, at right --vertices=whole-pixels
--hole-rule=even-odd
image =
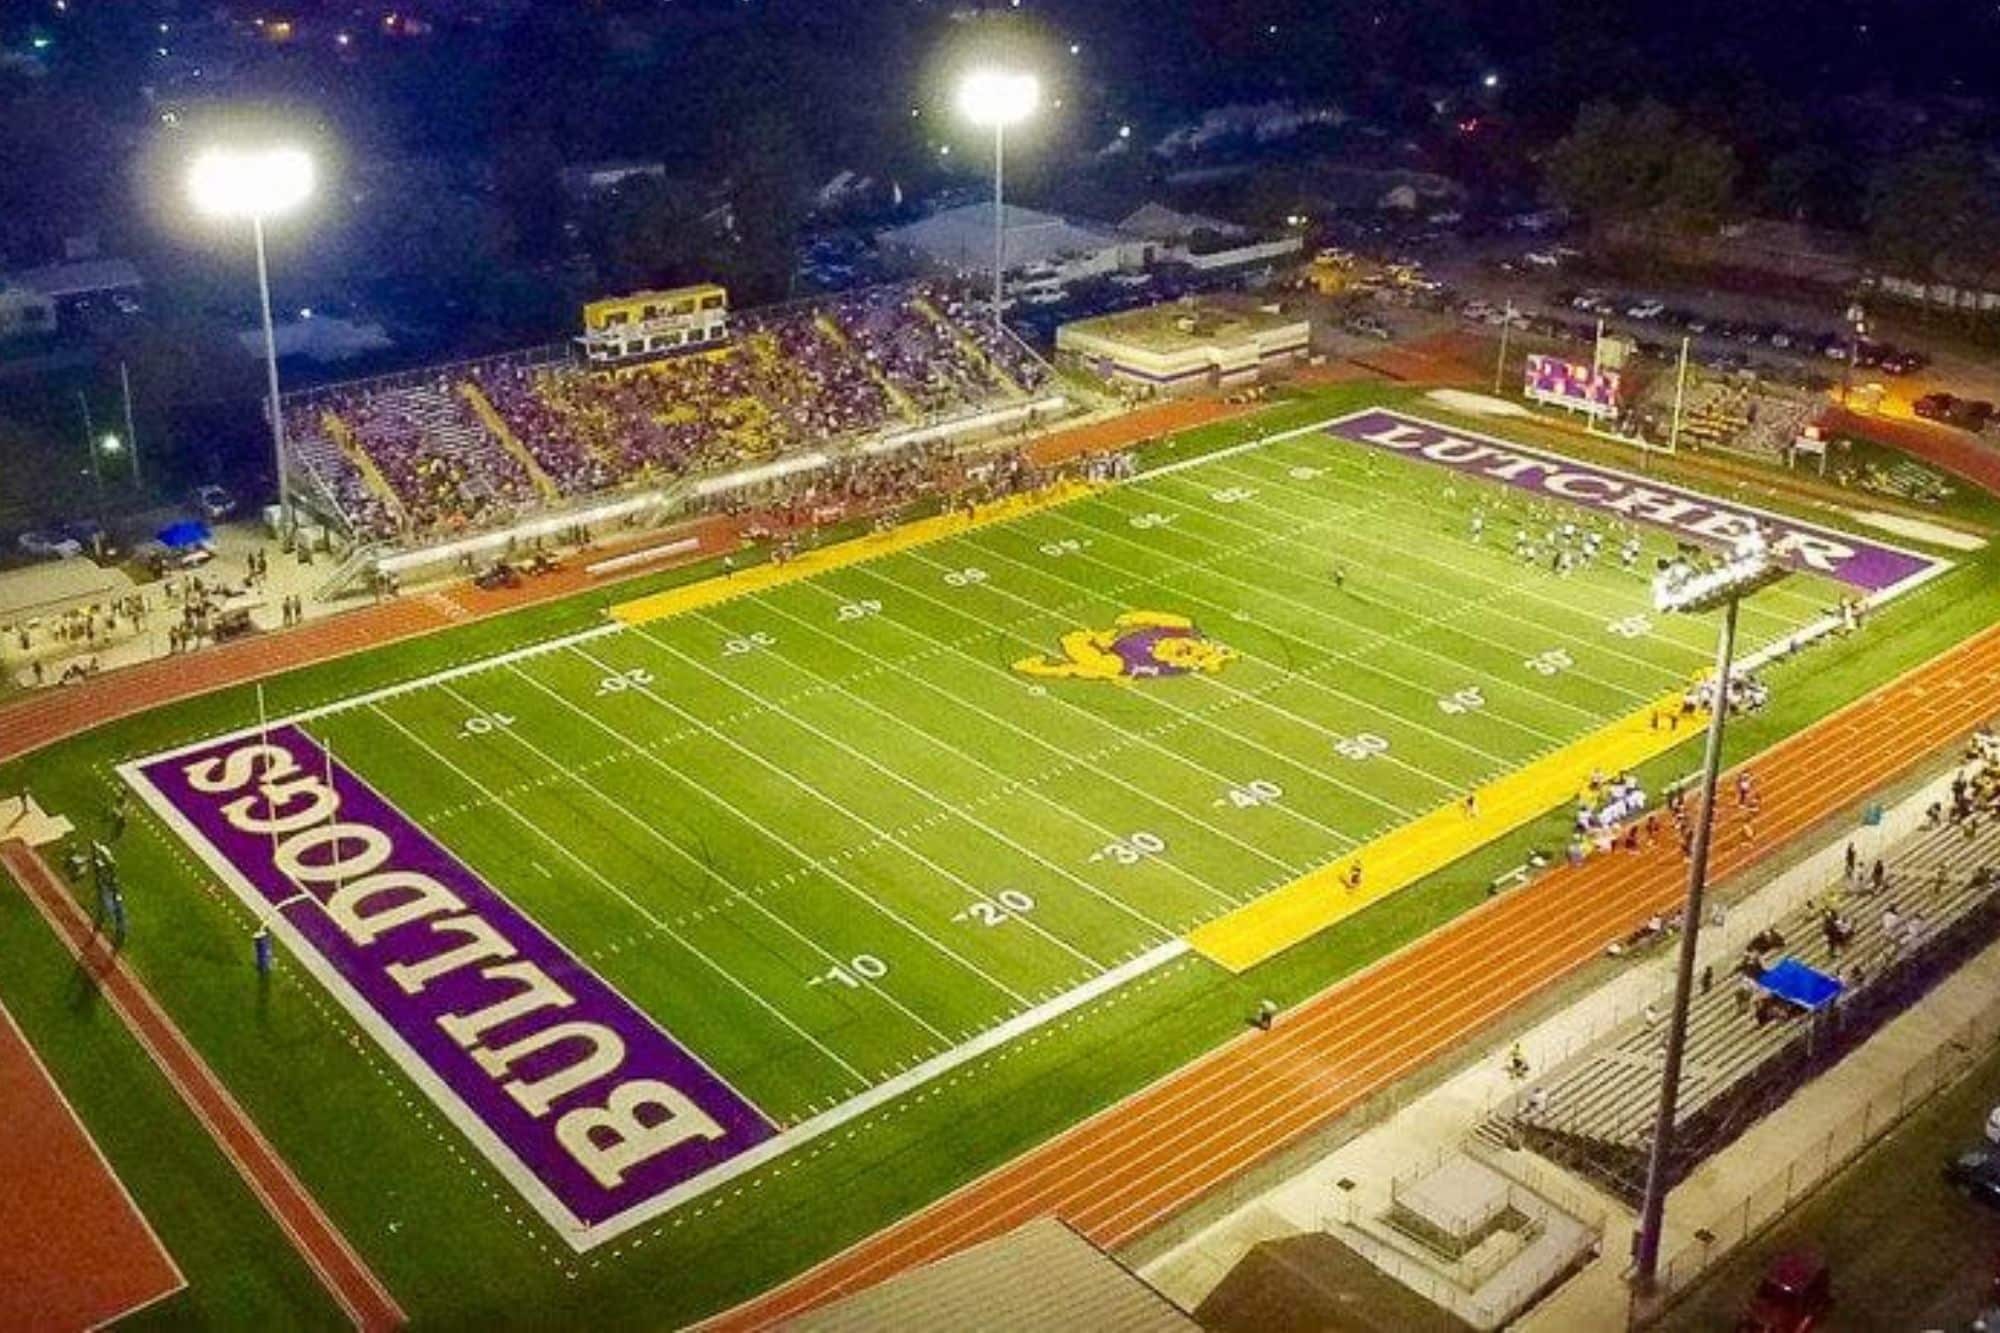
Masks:
[[[1870,893],[1834,885],[1818,903],[1778,923],[1782,949],[1836,975],[1846,991],[1828,1009],[1804,1015],[1772,1005],[1734,971],[1734,957],[1710,959],[1714,985],[1696,989],[1688,1013],[1676,1161],[1682,1179],[1704,1157],[1756,1123],[1814,1071],[1838,1061],[1906,1009],[1952,965],[2000,931],[2000,821],[1948,823],[1906,839],[1886,859],[1886,883]],[[1834,953],[1822,915],[1836,909],[1852,937]],[[1896,913],[1896,935],[1886,929]],[[1656,1005],[1668,1009],[1668,997]],[[1646,1017],[1512,1097],[1478,1129],[1506,1147],[1532,1147],[1580,1169],[1612,1193],[1636,1199],[1658,1113],[1666,1021]]]

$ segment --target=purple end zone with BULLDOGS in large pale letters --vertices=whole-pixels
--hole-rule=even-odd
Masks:
[[[136,773],[538,1205],[594,1227],[776,1133],[380,793],[338,765],[328,789],[326,751],[300,729]]]

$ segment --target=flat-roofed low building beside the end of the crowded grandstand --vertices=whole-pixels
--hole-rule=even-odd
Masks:
[[[1056,356],[1148,392],[1254,384],[1304,360],[1312,324],[1276,302],[1228,296],[1100,314],[1056,330]]]

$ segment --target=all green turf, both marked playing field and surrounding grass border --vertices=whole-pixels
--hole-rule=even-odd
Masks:
[[[1154,961],[1702,669],[1712,626],[1652,618],[1614,546],[1570,576],[1516,560],[1518,496],[1322,438],[1200,458],[1374,400],[1286,402],[1152,454],[1176,470],[704,612],[604,630],[618,594],[592,594],[268,685],[272,717],[304,715],[776,1121],[978,1051],[644,1233],[570,1255],[316,983],[280,961],[254,995],[246,913],[150,817],[120,845],[130,957],[420,1321],[656,1325],[742,1297],[1216,1045],[1258,997],[1312,993],[1464,911],[1562,817],[1248,979]],[[1992,584],[1968,578],[1988,572],[1774,666],[1738,747],[1990,618]],[[1780,584],[1746,636],[1832,598]],[[1184,614],[1234,660],[1134,683],[1014,669],[1132,610]],[[254,719],[234,691],[8,779],[94,829],[112,763]],[[1116,1003],[1052,1009],[1134,963],[1150,971]],[[202,1255],[186,1267],[200,1283]]]

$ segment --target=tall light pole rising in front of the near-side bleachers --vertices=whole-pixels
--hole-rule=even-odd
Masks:
[[[1736,656],[1736,608],[1758,588],[1784,578],[1786,568],[1770,558],[1760,534],[1746,536],[1726,560],[1698,568],[1672,560],[1652,584],[1652,604],[1666,614],[1722,610],[1716,634],[1714,693],[1708,701],[1708,745],[1702,753],[1702,807],[1694,823],[1688,855],[1688,901],[1680,913],[1680,967],[1674,973],[1674,1011],[1666,1025],[1666,1059],[1660,1069],[1660,1109],[1652,1125],[1646,1157],[1646,1193],[1640,1199],[1638,1245],[1632,1255],[1632,1285],[1652,1295],[1660,1277],[1660,1231],[1666,1217],[1668,1165],[1674,1153],[1674,1121],[1680,1103],[1680,1065],[1688,1045],[1688,1005],[1694,991],[1694,963],[1702,933],[1702,897],[1708,891],[1708,847],[1716,821],[1716,783],[1722,777],[1722,731],[1730,717],[1730,664]]]

